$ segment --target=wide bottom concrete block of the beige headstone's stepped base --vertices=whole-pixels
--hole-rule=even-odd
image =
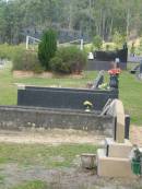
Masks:
[[[97,151],[97,175],[102,177],[134,178],[129,158],[106,157],[105,151]]]

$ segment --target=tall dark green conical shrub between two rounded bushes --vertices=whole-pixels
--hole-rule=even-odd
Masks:
[[[38,59],[46,70],[49,70],[49,61],[55,56],[57,50],[56,33],[49,29],[44,33],[43,39],[38,45]]]

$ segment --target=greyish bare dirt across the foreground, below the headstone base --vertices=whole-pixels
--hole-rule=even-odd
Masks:
[[[44,167],[19,167],[8,164],[0,167],[3,176],[0,189],[8,189],[29,180],[47,181],[50,189],[138,189],[142,187],[142,179],[99,178],[95,172],[81,167],[47,169]]]

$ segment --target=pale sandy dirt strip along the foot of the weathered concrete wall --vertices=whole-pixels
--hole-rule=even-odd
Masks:
[[[4,131],[0,132],[0,142],[12,143],[47,143],[47,144],[61,144],[61,143],[93,143],[100,144],[103,135],[96,135],[95,132],[85,132],[76,130],[62,130],[62,129],[33,129],[31,131]]]

